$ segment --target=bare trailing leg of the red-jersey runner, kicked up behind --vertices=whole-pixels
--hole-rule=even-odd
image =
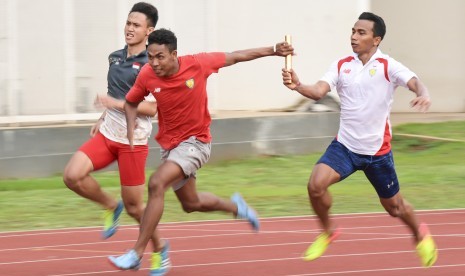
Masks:
[[[190,177],[187,183],[175,191],[185,212],[223,211],[237,216],[237,205],[230,200],[224,200],[215,194],[197,192],[195,177]]]

